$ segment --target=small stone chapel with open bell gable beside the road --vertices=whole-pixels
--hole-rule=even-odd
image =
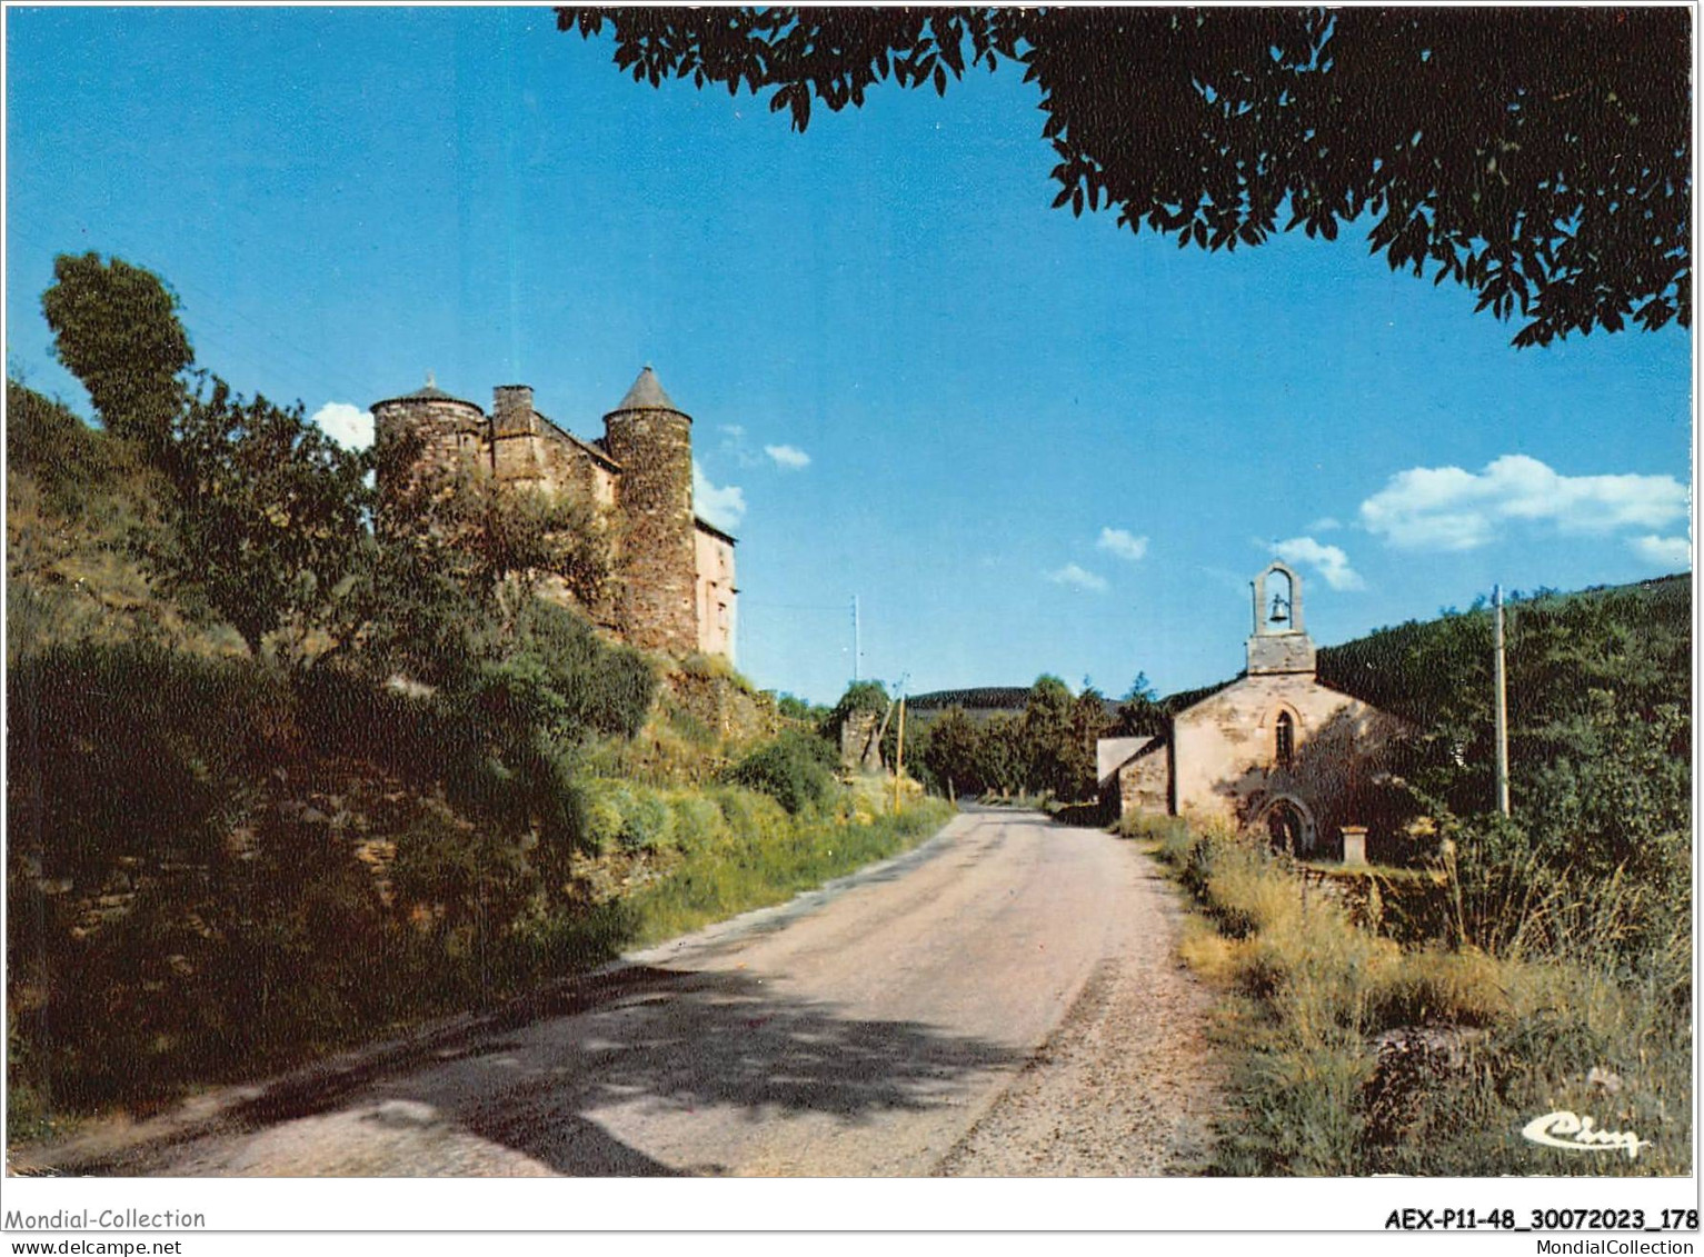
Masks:
[[[1295,571],[1271,564],[1252,593],[1244,673],[1157,738],[1102,739],[1102,792],[1120,816],[1217,816],[1295,855],[1341,857],[1343,829],[1367,824],[1404,726],[1319,681]]]

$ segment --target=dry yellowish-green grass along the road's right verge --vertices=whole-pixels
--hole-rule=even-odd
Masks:
[[[1689,937],[1631,964],[1626,932],[1554,901],[1546,928],[1566,913],[1580,928],[1566,950],[1534,947],[1537,927],[1518,923],[1501,952],[1459,935],[1402,947],[1351,920],[1329,879],[1229,829],[1167,831],[1159,855],[1203,911],[1183,959],[1232,995],[1241,1114],[1218,1170],[1687,1172]],[[1600,913],[1619,916],[1614,886],[1605,896]],[[1556,1109],[1651,1146],[1569,1157],[1520,1138]]]

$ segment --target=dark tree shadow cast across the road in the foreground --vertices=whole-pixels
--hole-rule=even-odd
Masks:
[[[595,1114],[622,1105],[624,1122],[639,1124],[694,1114],[724,1134],[729,1121],[758,1124],[796,1112],[862,1124],[881,1112],[949,1104],[963,1095],[968,1075],[1016,1066],[1021,1056],[917,1022],[852,1019],[828,1003],[777,995],[748,974],[641,967],[591,1007],[556,1008],[544,1020],[358,1080],[273,1088],[228,1114],[225,1129],[245,1138],[341,1111],[353,1117],[344,1129],[366,1131],[360,1138],[375,1146],[409,1128],[460,1129],[557,1174],[719,1174],[728,1167],[687,1157],[663,1163],[612,1136]],[[433,1172],[363,1162],[353,1148],[325,1153],[324,1168],[281,1172]],[[438,1165],[436,1172],[479,1168]]]

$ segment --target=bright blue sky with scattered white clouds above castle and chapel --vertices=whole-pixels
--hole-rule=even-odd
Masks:
[[[201,364],[353,416],[646,363],[740,537],[740,663],[832,700],[1234,674],[1247,581],[1321,642],[1689,560],[1690,341],[1517,353],[1365,232],[1235,254],[1050,210],[1019,75],[789,131],[639,87],[549,10],[7,10],[7,364],[87,414],[58,252],[162,274]],[[343,407],[343,409],[339,409]]]

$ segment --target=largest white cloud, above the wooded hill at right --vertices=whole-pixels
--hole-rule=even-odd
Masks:
[[[1505,525],[1564,533],[1661,528],[1687,513],[1672,475],[1561,475],[1537,458],[1503,455],[1482,472],[1414,467],[1361,502],[1361,525],[1409,550],[1472,550]]]

